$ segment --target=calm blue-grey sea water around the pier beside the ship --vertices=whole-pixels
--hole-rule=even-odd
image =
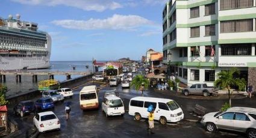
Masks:
[[[50,61],[51,68],[42,69],[42,70],[28,70],[35,72],[55,72],[55,71],[68,71],[68,72],[93,72],[92,61]],[[89,68],[86,68],[88,65]],[[73,70],[75,67],[75,70]],[[74,79],[76,77],[80,77],[80,75],[72,75],[71,78]],[[49,76],[37,76],[37,81],[40,82],[42,80],[48,80]],[[55,80],[63,82],[66,80],[66,76],[64,75],[56,75],[54,76]],[[6,82],[2,83],[7,86],[8,91],[6,93],[7,97],[11,95],[20,94],[22,92],[33,91],[38,89],[38,84],[32,82],[32,76],[21,76],[21,82],[16,83],[15,76],[6,76]]]

